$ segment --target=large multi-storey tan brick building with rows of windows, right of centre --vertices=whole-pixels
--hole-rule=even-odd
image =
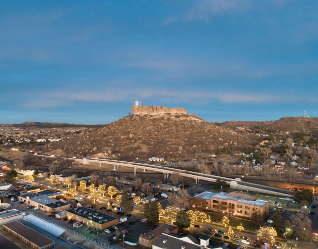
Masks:
[[[231,213],[233,215],[250,219],[264,220],[269,215],[269,203],[243,193],[219,194],[204,192],[192,198],[193,208],[210,210],[218,213]]]

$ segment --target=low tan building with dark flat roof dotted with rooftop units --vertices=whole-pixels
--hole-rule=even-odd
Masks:
[[[115,217],[85,207],[68,210],[66,211],[66,215],[69,219],[81,221],[84,225],[90,225],[99,230],[115,226],[118,224],[119,220]]]

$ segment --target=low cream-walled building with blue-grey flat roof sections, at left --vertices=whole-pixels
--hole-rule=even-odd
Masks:
[[[48,191],[52,192],[52,191]],[[58,201],[63,194],[59,192],[46,193],[46,191],[23,195],[19,197],[20,202],[25,202],[30,206],[37,207],[46,212],[58,213],[63,210],[69,210],[71,205],[69,203]]]

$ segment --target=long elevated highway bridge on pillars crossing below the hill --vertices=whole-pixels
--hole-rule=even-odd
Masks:
[[[165,177],[168,178],[169,174],[171,175],[173,172],[178,172],[181,176],[184,177],[189,177],[189,178],[194,178],[196,183],[200,180],[206,180],[210,182],[215,182],[217,178],[220,178],[221,180],[226,181],[229,185],[231,184],[231,181],[236,181],[237,182],[237,188],[241,190],[249,190],[249,191],[257,191],[257,192],[263,192],[263,193],[269,193],[269,194],[280,194],[288,197],[292,197],[294,192],[285,190],[285,189],[278,189],[274,188],[271,186],[265,186],[261,184],[255,184],[255,183],[250,183],[250,182],[243,182],[240,179],[237,178],[228,178],[228,177],[222,177],[218,175],[209,175],[209,174],[203,174],[199,172],[193,172],[193,171],[187,171],[187,170],[182,170],[182,169],[176,169],[173,166],[168,166],[165,164],[153,164],[153,163],[140,163],[140,162],[130,162],[130,161],[120,161],[120,160],[111,160],[111,159],[101,159],[101,158],[82,158],[82,157],[65,157],[65,156],[60,156],[60,155],[50,155],[50,154],[45,154],[45,153],[37,153],[34,151],[28,151],[28,150],[23,150],[23,149],[15,149],[15,148],[6,148],[2,147],[4,149],[9,149],[9,150],[17,150],[21,152],[26,152],[33,154],[35,156],[45,156],[45,157],[54,157],[54,158],[68,158],[68,159],[73,159],[76,161],[79,161],[80,163],[83,164],[91,164],[91,163],[99,163],[101,166],[102,170],[102,165],[103,164],[111,164],[114,166],[114,170],[116,170],[116,167],[130,167],[135,169],[135,174],[136,174],[136,169],[143,169],[144,171],[155,171],[158,173],[163,173]]]

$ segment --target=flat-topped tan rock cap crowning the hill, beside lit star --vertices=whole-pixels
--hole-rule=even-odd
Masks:
[[[134,114],[186,114],[185,108],[168,108],[164,106],[134,105]]]

